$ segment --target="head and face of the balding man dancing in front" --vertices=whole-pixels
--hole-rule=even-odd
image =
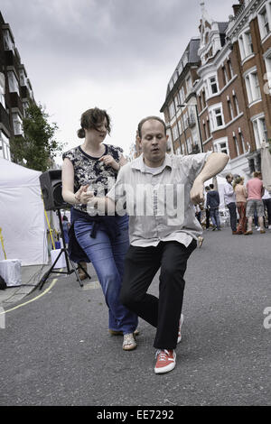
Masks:
[[[164,125],[156,119],[151,119],[142,125],[141,134],[139,143],[145,164],[153,168],[162,165],[168,139],[168,135],[164,134]]]

